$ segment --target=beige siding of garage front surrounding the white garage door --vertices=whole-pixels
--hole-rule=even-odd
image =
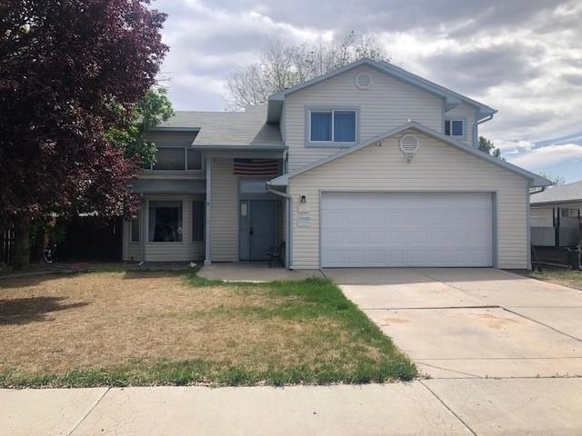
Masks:
[[[527,268],[527,180],[423,134],[411,163],[400,152],[397,137],[292,177],[293,268],[318,268],[321,191],[362,192],[492,192],[497,197],[497,266]],[[306,195],[311,224],[297,226],[297,204]],[[494,244],[494,250],[495,250]],[[495,254],[494,254],[495,257]]]

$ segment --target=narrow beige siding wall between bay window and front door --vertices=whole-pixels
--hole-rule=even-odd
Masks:
[[[232,159],[213,159],[211,169],[210,259],[238,260],[238,179]]]

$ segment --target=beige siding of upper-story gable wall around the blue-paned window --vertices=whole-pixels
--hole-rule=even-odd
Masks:
[[[372,75],[369,89],[358,89],[356,74]],[[284,121],[289,147],[289,171],[334,154],[337,148],[306,147],[306,106],[359,108],[359,140],[415,120],[438,132],[443,130],[443,100],[387,74],[362,66],[309,86],[286,97]]]

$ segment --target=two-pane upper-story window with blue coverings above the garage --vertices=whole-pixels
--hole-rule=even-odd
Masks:
[[[311,144],[356,144],[356,109],[310,109],[307,139]]]

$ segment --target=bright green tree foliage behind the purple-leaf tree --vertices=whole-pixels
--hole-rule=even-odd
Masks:
[[[125,158],[136,158],[141,163],[156,162],[156,144],[146,141],[147,129],[167,121],[174,114],[174,106],[167,97],[167,89],[151,88],[143,99],[133,105],[131,122],[121,127],[112,127],[105,136],[120,147]]]

